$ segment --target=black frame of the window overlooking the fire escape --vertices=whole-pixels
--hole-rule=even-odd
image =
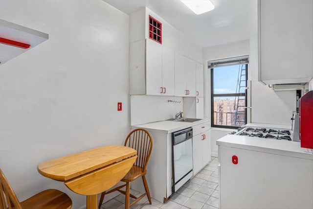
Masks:
[[[237,64],[234,61],[233,65],[246,65],[246,87],[248,81],[248,63],[245,64]],[[222,67],[222,66],[221,66]],[[211,75],[211,127],[215,128],[229,128],[229,129],[238,129],[240,126],[229,126],[229,125],[216,125],[214,124],[214,97],[236,97],[236,96],[244,96],[245,97],[245,107],[247,107],[247,88],[245,89],[245,93],[216,93],[214,94],[214,68],[210,68],[210,75]],[[245,108],[245,124],[247,123],[247,108]]]

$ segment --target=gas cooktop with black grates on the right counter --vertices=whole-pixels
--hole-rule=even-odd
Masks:
[[[238,132],[232,132],[230,134],[239,136],[248,136],[264,139],[278,139],[292,141],[292,134],[287,129],[272,129],[263,127],[240,127]]]

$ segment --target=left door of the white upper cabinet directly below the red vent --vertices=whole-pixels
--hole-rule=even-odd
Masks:
[[[146,94],[162,95],[162,45],[146,40]]]

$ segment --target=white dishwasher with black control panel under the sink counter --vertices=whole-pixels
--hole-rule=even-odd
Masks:
[[[192,128],[186,128],[172,133],[172,192],[192,176]]]

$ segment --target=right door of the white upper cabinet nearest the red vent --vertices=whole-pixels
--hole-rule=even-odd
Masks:
[[[162,47],[162,88],[163,95],[175,95],[175,55],[174,51]]]

